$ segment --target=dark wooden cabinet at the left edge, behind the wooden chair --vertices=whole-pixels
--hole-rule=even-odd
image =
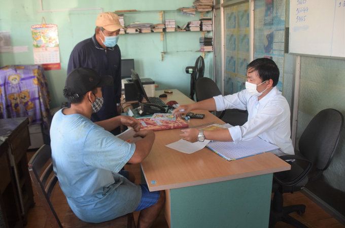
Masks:
[[[12,198],[15,198],[14,201],[18,202],[19,210],[20,210],[20,217],[23,224],[27,222],[27,212],[29,207],[34,205],[33,202],[33,191],[31,186],[31,180],[27,169],[27,158],[26,158],[26,150],[30,146],[30,138],[28,132],[28,118],[12,118],[12,119],[0,119],[0,138],[4,139],[8,143],[8,149],[6,151],[7,157],[10,161],[10,171],[11,171],[11,178],[10,182],[14,184],[15,189],[8,189],[9,184],[9,173],[4,172],[1,175],[1,182],[0,189],[6,187],[9,192],[6,194],[13,193]],[[3,151],[3,150],[2,150]],[[3,158],[5,159],[5,158]],[[2,161],[2,164],[5,164],[5,160]],[[6,168],[1,168],[6,170]],[[1,172],[2,173],[2,172]],[[4,179],[4,183],[3,183]],[[16,192],[16,193],[14,193]],[[6,198],[7,199],[7,198]],[[9,200],[9,199],[7,199]],[[5,202],[4,198],[4,211],[6,214],[14,214],[14,206],[12,204],[8,204]],[[12,199],[13,201],[13,199]],[[13,202],[12,202],[13,203]],[[7,216],[8,217],[8,216]],[[16,220],[16,219],[14,219]],[[7,226],[5,226],[7,227]],[[12,224],[9,222],[8,227],[20,227],[16,224]]]

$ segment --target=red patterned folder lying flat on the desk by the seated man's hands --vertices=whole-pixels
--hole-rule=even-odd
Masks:
[[[172,128],[188,127],[185,120],[178,118],[176,121],[169,120],[151,120],[150,118],[139,119],[142,124],[141,130],[159,131]]]

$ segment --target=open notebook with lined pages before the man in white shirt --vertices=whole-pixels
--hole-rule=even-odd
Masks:
[[[278,146],[270,144],[259,137],[237,143],[211,141],[206,147],[229,161],[279,149]]]

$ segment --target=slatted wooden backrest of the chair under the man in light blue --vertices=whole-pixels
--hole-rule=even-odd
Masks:
[[[50,194],[57,182],[51,157],[50,146],[43,145],[30,159],[28,169],[33,186],[37,190],[52,228],[62,228],[61,222],[50,202]]]

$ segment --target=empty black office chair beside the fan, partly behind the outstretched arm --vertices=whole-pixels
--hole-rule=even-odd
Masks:
[[[203,101],[222,94],[217,84],[211,78],[198,78],[195,82],[196,101]],[[219,112],[217,112],[219,113]],[[243,125],[248,121],[248,112],[238,109],[228,109],[222,111],[218,118],[233,126]]]

